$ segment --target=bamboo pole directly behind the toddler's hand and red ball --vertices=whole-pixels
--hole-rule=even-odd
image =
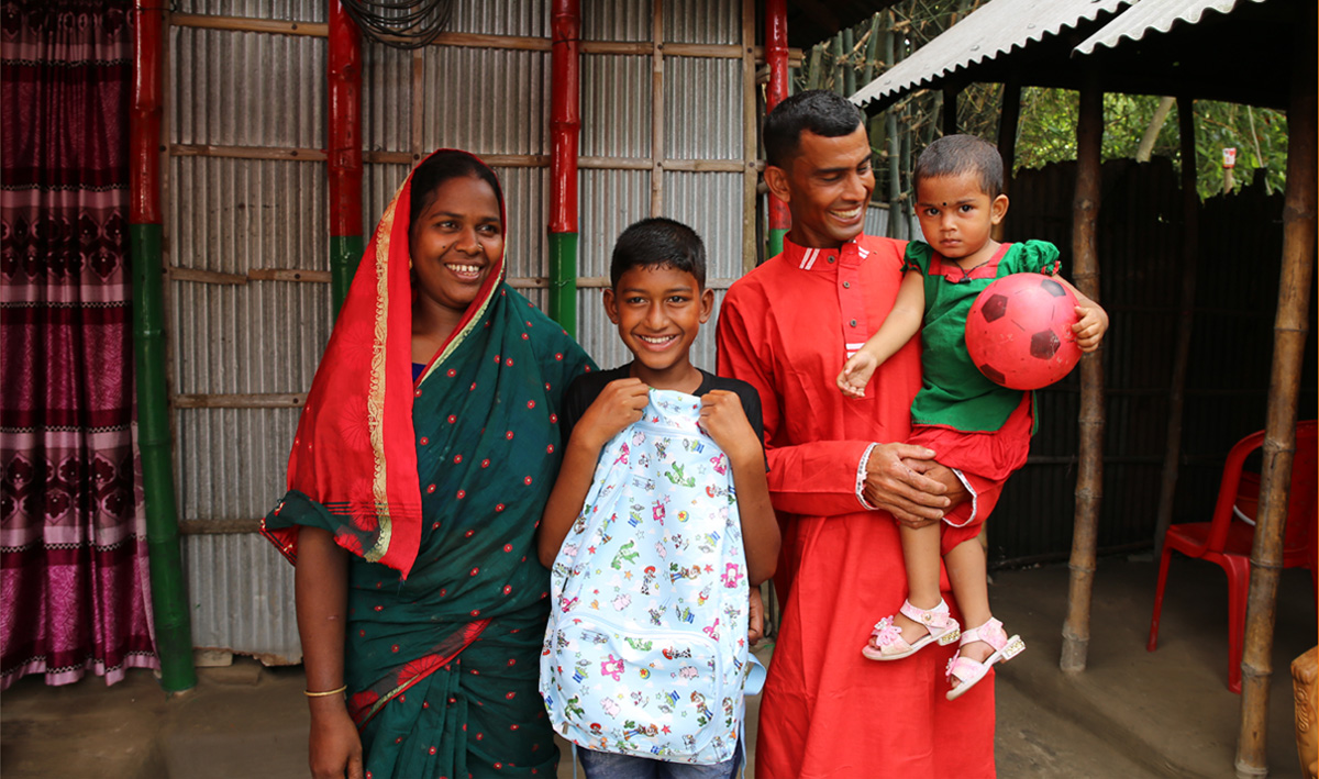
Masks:
[[[1080,90],[1076,125],[1076,195],[1072,200],[1072,257],[1076,287],[1099,301],[1100,144],[1104,140],[1104,92],[1099,71],[1091,67]],[[1080,364],[1080,467],[1076,473],[1076,518],[1068,568],[1067,621],[1058,667],[1086,670],[1089,649],[1089,602],[1095,587],[1095,543],[1104,497],[1104,364],[1103,351]]]

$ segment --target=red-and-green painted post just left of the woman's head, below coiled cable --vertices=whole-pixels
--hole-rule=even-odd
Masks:
[[[339,0],[328,0],[326,59],[330,117],[330,286],[338,312],[361,258],[361,34]]]

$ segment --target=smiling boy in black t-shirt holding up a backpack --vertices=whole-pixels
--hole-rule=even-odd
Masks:
[[[774,572],[780,533],[765,478],[760,395],[749,384],[712,376],[691,364],[691,344],[715,303],[714,291],[706,289],[704,245],[685,224],[645,219],[619,236],[609,275],[612,287],[604,291],[604,310],[634,359],[613,370],[580,376],[568,386],[559,414],[563,465],[537,538],[541,563],[554,565],[559,546],[582,511],[604,444],[641,419],[652,388],[678,390],[702,398],[700,426],[732,467],[756,614],[756,588]],[[580,754],[588,779],[592,767],[627,770],[616,765],[617,759],[653,763],[591,750]],[[700,776],[731,776],[739,762],[740,755],[718,766],[663,763],[670,770],[661,775],[704,768]]]

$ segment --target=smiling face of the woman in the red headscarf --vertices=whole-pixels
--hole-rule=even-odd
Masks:
[[[504,256],[504,225],[495,190],[476,177],[441,182],[409,227],[417,295],[462,314]]]

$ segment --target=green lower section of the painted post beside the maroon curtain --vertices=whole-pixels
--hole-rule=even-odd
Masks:
[[[193,625],[179,552],[169,399],[165,394],[161,225],[133,224],[128,235],[133,265],[137,446],[142,457],[156,646],[161,659],[161,687],[166,692],[179,692],[197,687],[197,671],[193,668]]]

